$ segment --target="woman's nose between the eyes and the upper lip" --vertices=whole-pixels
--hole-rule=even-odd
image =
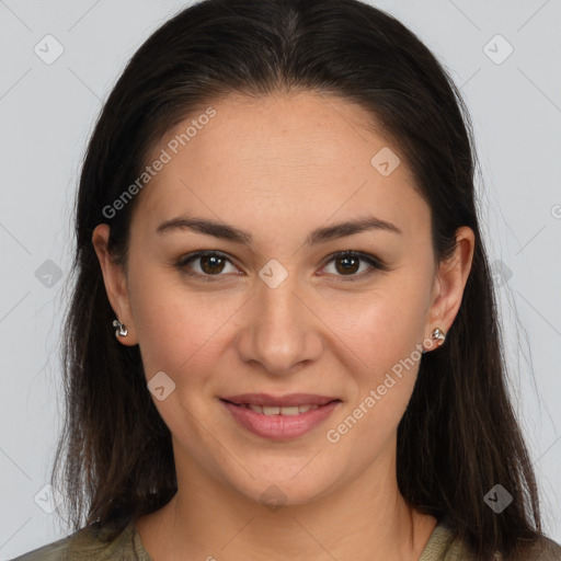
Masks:
[[[260,279],[237,340],[241,359],[277,376],[317,360],[322,323],[307,299],[294,272],[274,288]]]

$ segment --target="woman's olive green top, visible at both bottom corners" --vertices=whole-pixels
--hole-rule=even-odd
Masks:
[[[111,542],[103,540],[104,529],[92,525],[12,561],[154,561],[146,551],[134,522]],[[470,561],[453,533],[440,520],[434,528],[419,561]],[[501,557],[495,557],[501,560]],[[561,561],[561,546],[542,538],[528,553],[528,561]],[[490,560],[491,561],[491,560]],[[506,560],[505,560],[506,561]]]

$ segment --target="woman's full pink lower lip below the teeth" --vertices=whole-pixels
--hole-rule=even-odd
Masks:
[[[288,440],[311,431],[322,423],[341,401],[331,401],[318,409],[297,415],[265,415],[242,405],[220,400],[238,423],[257,436],[272,440]]]

